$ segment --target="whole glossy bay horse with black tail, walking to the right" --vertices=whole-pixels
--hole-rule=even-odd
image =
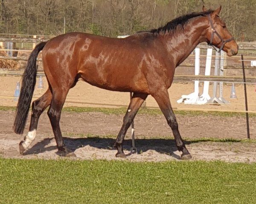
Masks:
[[[203,7],[202,12],[183,15],[166,26],[123,39],[74,32],[39,43],[23,74],[13,125],[15,133],[22,134],[26,125],[36,82],[36,59],[41,50],[49,88],[32,102],[29,132],[19,144],[20,153],[35,139],[39,116],[50,106],[47,114],[58,151],[65,156],[72,154],[62,138],[59,121],[69,89],[82,79],[99,88],[134,93],[114,143],[116,157],[125,157],[122,144],[126,131],[150,94],[172,128],[177,149],[182,152],[181,159],[191,159],[181,139],[167,90],[175,68],[199,43],[208,42],[227,52],[228,56],[237,54],[238,45],[219,17],[220,11],[221,6],[215,10]]]

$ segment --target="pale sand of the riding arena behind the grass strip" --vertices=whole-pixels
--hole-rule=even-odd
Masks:
[[[34,99],[42,96],[48,88],[47,80],[43,79],[43,89],[38,89],[38,81],[34,91]],[[0,105],[16,106],[17,101],[14,100],[14,92],[16,83],[21,83],[21,76],[0,76]],[[232,84],[227,83],[223,85],[223,98],[229,104],[223,105],[187,105],[184,103],[178,104],[177,100],[181,95],[188,95],[194,91],[194,82],[174,82],[169,88],[169,97],[173,109],[176,110],[220,110],[220,111],[244,111],[244,85],[236,84],[237,99],[230,99]],[[202,94],[204,82],[200,83],[200,94]],[[248,110],[256,112],[256,84],[247,84]],[[213,84],[209,86],[209,96],[212,97]],[[217,90],[217,96],[219,95]],[[116,91],[107,91],[89,85],[86,82],[79,81],[76,86],[70,89],[67,95],[64,106],[80,106],[80,107],[127,107],[130,100],[129,93],[122,93]],[[146,99],[146,106],[151,108],[158,108],[158,105],[153,97],[148,96]]]

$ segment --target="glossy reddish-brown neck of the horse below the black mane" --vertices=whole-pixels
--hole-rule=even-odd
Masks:
[[[195,47],[201,43],[206,42],[206,31],[209,22],[206,17],[197,17],[189,20],[184,26],[177,26],[177,30],[173,33],[165,34],[165,43],[168,53],[175,62],[175,67],[180,65]]]

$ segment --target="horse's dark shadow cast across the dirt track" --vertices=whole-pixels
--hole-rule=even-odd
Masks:
[[[54,138],[46,138],[38,143],[36,143],[33,147],[27,150],[23,155],[30,155],[30,154],[38,154],[43,153],[51,150],[57,150],[56,146],[48,146],[54,140]],[[115,139],[109,138],[98,138],[98,137],[90,137],[90,138],[67,138],[64,137],[65,144],[67,147],[75,151],[81,147],[89,145],[90,147],[96,147],[98,149],[108,149],[116,151],[116,148],[113,148],[113,144]],[[55,142],[55,140],[54,140]],[[198,139],[198,140],[185,140],[185,144],[192,144],[192,143],[202,143],[202,142],[212,142],[212,139]],[[233,139],[227,140],[220,140],[218,142],[239,142]],[[180,156],[175,154],[174,152],[177,151],[176,142],[174,139],[136,139],[135,145],[137,147],[137,153],[140,154],[141,152],[146,152],[148,150],[155,150],[158,153],[169,154],[170,156],[175,157],[176,159],[181,159]],[[124,150],[130,150],[131,148],[131,139],[124,140],[123,143]],[[127,156],[129,156],[128,154]]]

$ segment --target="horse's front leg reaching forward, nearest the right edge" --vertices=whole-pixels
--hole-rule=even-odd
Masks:
[[[191,159],[192,156],[187,150],[178,129],[178,123],[175,117],[175,114],[172,110],[171,102],[169,99],[169,94],[166,88],[163,89],[157,89],[157,92],[154,94],[151,94],[154,99],[157,101],[157,104],[159,105],[161,111],[163,112],[163,115],[165,116],[168,125],[172,128],[172,133],[175,138],[175,142],[177,145],[177,149],[182,152],[181,159]]]

